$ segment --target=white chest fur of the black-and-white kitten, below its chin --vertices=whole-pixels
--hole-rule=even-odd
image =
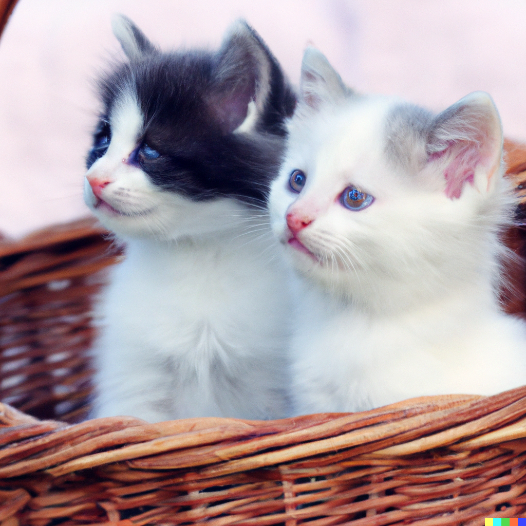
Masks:
[[[268,237],[130,242],[101,302],[96,415],[284,416],[288,290]]]

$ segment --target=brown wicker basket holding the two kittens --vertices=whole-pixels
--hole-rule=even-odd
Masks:
[[[505,147],[526,200],[526,147]],[[507,237],[520,255],[525,218],[521,205]],[[92,219],[0,240],[0,526],[480,526],[526,516],[526,387],[268,422],[82,422],[92,298],[119,257]],[[509,273],[507,309],[523,314],[524,269]]]

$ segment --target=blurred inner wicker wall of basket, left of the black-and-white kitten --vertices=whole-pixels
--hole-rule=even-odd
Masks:
[[[118,258],[95,220],[0,241],[0,398],[40,418],[86,416],[92,302]]]

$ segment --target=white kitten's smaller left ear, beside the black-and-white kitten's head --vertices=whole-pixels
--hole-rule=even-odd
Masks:
[[[351,91],[326,56],[315,47],[307,47],[301,63],[300,102],[318,109],[324,102],[337,102]]]

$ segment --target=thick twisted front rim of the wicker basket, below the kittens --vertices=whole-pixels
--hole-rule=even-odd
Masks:
[[[64,422],[33,419],[7,404],[0,404],[0,408],[0,422],[5,426],[3,431],[7,433],[5,438],[10,436],[9,428],[12,428],[15,434],[22,433],[23,437],[18,434],[17,437],[24,440],[30,437],[36,440],[35,437],[42,433],[42,429],[49,433],[45,440],[50,440],[53,436],[58,440],[61,434],[67,439],[70,434],[83,429],[90,429],[90,433],[100,433],[100,436],[107,434],[108,442],[105,445],[103,442],[91,446],[84,443],[81,444],[82,448],[78,449],[81,451],[83,448],[93,447],[98,451],[96,453],[86,453],[84,449],[84,453],[75,459],[77,453],[70,451],[68,455],[73,458],[58,461],[56,459],[59,457],[55,456],[49,460],[49,465],[44,467],[53,476],[102,466],[108,462],[150,457],[161,452],[180,449],[190,452],[204,444],[225,441],[248,441],[250,446],[245,446],[245,449],[229,446],[228,452],[224,451],[220,456],[215,456],[214,453],[209,457],[201,457],[201,465],[208,466],[204,469],[208,469],[209,474],[218,476],[284,462],[303,461],[340,449],[354,448],[357,456],[372,454],[381,458],[398,458],[442,447],[462,451],[526,437],[526,386],[491,397],[420,397],[360,413],[319,413],[274,421],[209,417],[152,424],[134,417],[108,417],[69,425]],[[122,447],[122,441],[112,442],[115,437],[111,433],[115,432],[115,427],[126,430],[125,442],[132,445]],[[108,432],[107,429],[112,431]],[[156,437],[141,439],[147,437],[148,433]],[[207,433],[210,436],[204,438]],[[167,440],[168,437],[172,437],[172,440]],[[4,456],[15,454],[24,448],[31,450],[35,445],[33,440],[28,442],[29,446],[24,443],[22,446],[14,444],[4,450]],[[278,449],[270,453],[256,453],[268,448]],[[101,449],[106,450],[101,452]],[[63,457],[64,455],[62,453]],[[36,471],[43,469],[43,462],[45,463],[45,460],[39,458],[35,466],[41,467],[35,468]],[[218,462],[220,467],[212,467]],[[30,461],[30,464],[23,468],[17,466],[16,462],[9,467],[0,468],[0,479],[32,472],[31,466]],[[183,467],[189,466],[178,465],[177,469]],[[165,468],[156,464],[155,469],[175,467],[169,463],[165,464]],[[202,472],[201,469],[201,474]]]

